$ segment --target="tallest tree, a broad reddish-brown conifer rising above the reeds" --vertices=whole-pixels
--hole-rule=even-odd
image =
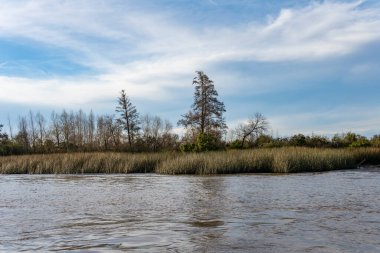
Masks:
[[[214,82],[202,71],[197,71],[193,79],[195,85],[194,102],[191,110],[182,115],[178,125],[184,126],[198,135],[212,135],[220,138],[227,129],[223,113],[226,111],[223,102],[218,100]]]

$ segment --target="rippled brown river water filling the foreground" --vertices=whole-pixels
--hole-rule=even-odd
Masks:
[[[0,175],[0,252],[380,252],[380,168]]]

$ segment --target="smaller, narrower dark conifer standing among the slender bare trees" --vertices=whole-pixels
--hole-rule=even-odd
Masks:
[[[120,97],[118,98],[118,106],[116,107],[116,112],[120,114],[117,119],[119,124],[127,132],[129,148],[132,149],[132,143],[134,138],[138,135],[140,130],[139,124],[139,114],[136,107],[131,103],[125,91],[122,90]]]

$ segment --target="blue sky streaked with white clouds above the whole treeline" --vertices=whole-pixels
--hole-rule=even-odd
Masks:
[[[115,114],[124,89],[176,125],[197,70],[230,129],[260,112],[275,136],[380,134],[380,2],[0,0],[0,124]]]

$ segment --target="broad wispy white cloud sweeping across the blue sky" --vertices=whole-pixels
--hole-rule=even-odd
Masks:
[[[0,101],[80,106],[115,97],[122,88],[133,97],[167,100],[174,88],[191,89],[195,70],[232,75],[215,67],[220,63],[310,62],[349,55],[380,40],[380,9],[362,3],[312,2],[282,9],[266,21],[199,29],[192,20],[175,19],[163,9],[146,10],[133,1],[2,1],[0,39],[63,49],[67,60],[95,74],[9,77],[0,66]],[[234,88],[239,85],[254,84],[236,82]]]

